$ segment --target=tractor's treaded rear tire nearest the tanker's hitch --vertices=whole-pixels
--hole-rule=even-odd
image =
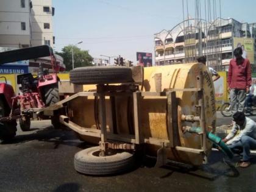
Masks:
[[[46,107],[60,101],[59,88],[57,84],[44,87],[44,100]]]

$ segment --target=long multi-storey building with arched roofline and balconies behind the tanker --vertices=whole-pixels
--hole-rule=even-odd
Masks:
[[[244,57],[255,63],[256,23],[240,23],[232,18],[218,18],[212,23],[201,20],[201,30],[186,34],[187,27],[193,26],[195,22],[193,19],[186,20],[171,30],[162,30],[154,35],[155,65],[185,63],[188,52],[194,50],[194,60],[199,55],[207,55],[207,63],[210,63],[208,60],[215,57],[220,62],[213,63],[213,67],[225,70],[229,66],[229,60],[233,58],[233,49],[237,46],[244,49]],[[215,26],[214,29],[212,26]],[[193,49],[186,49],[189,46]]]

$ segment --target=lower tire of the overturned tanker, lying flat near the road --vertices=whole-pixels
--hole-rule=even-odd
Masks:
[[[104,176],[129,171],[135,165],[135,158],[129,152],[99,157],[99,146],[79,151],[74,156],[74,168],[88,175]]]

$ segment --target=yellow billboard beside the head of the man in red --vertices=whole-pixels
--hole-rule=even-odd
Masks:
[[[233,38],[233,48],[241,47],[243,49],[243,57],[249,59],[250,63],[254,63],[254,39],[253,38]]]

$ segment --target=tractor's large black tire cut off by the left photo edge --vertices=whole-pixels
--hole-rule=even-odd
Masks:
[[[9,112],[7,112],[7,107],[9,105],[5,105],[5,102],[3,100],[4,98],[0,98],[0,117],[8,116]],[[17,131],[17,123],[15,120],[8,121],[4,123],[0,123],[0,140],[2,141],[10,141],[13,137],[16,135]]]

